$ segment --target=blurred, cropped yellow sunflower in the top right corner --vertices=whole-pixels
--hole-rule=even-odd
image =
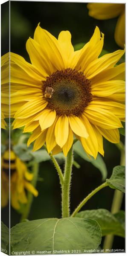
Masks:
[[[88,3],[89,15],[97,20],[108,20],[118,17],[115,29],[115,41],[120,47],[125,44],[125,4],[121,3]]]

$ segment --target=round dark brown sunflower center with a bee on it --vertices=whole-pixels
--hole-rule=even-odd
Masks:
[[[80,116],[92,100],[90,81],[75,69],[57,70],[43,81],[47,108],[57,115]]]

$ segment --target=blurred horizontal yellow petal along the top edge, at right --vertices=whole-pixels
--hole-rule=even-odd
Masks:
[[[89,15],[98,20],[108,20],[118,16],[125,8],[118,3],[88,3]]]

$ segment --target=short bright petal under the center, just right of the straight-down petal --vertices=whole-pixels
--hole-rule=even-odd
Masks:
[[[68,116],[68,119],[69,119],[70,127],[75,134],[84,138],[88,137],[87,130],[83,122],[78,116],[74,116],[74,115]]]

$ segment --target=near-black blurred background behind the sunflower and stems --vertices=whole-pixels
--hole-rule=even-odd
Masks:
[[[5,41],[8,33],[8,10],[2,10],[2,55],[8,51],[8,42]],[[6,17],[6,19],[5,19]],[[5,22],[6,20],[6,22]],[[36,26],[41,22],[41,27],[47,29],[58,37],[61,30],[69,30],[72,34],[73,45],[86,43],[93,35],[96,26],[105,34],[104,49],[113,52],[119,47],[114,41],[114,29],[117,18],[111,20],[95,20],[88,16],[86,3],[53,3],[53,2],[23,2],[11,1],[11,51],[22,55],[27,61],[29,56],[26,52],[26,41],[33,34]],[[121,136],[122,142],[124,137]],[[116,145],[104,140],[104,161],[108,169],[108,178],[111,176],[114,166],[120,163],[120,152]],[[71,212],[79,202],[96,186],[102,183],[102,175],[91,163],[85,162],[75,153],[75,160],[81,168],[73,166],[71,187]],[[40,164],[39,175],[43,181],[38,181],[38,198],[34,198],[29,220],[40,218],[61,218],[61,189],[58,175],[50,161]],[[114,190],[109,187],[98,192],[91,198],[82,210],[105,208],[111,210]],[[122,209],[125,207],[123,200]],[[8,207],[2,210],[5,218],[8,215]],[[18,214],[11,207],[11,227],[20,221]],[[113,249],[124,248],[124,239],[115,237]]]

